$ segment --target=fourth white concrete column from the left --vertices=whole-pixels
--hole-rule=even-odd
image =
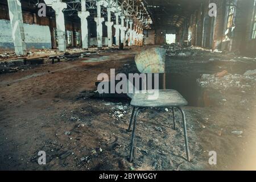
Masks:
[[[101,18],[101,0],[97,0],[97,18],[94,18],[94,21],[97,23],[97,44],[98,48],[102,48],[102,22],[104,18]]]

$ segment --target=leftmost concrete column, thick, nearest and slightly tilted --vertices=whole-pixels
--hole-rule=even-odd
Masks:
[[[27,55],[21,4],[19,0],[8,0],[8,7],[15,53]]]

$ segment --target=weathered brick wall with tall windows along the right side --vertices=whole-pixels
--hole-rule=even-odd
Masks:
[[[216,3],[217,17],[208,15],[209,2]],[[181,25],[176,34],[176,42],[185,43],[187,39],[189,46],[222,49],[255,56],[256,39],[251,39],[251,21],[253,11],[256,9],[254,0],[235,1],[237,3],[234,11],[232,36],[225,35],[228,23],[228,1],[211,0],[209,2],[202,3],[201,7],[191,14],[188,22]]]

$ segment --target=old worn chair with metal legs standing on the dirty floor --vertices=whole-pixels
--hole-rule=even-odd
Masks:
[[[142,51],[137,56],[135,56],[135,62],[138,70],[141,73],[164,73],[165,72],[165,57],[166,50],[163,48],[150,48]],[[133,86],[129,82],[127,86]],[[134,89],[134,88],[133,88]],[[181,96],[179,92],[176,90],[164,89],[159,90],[159,97],[156,100],[148,100],[149,93],[135,93],[135,94],[127,94],[131,98],[131,106],[133,106],[133,111],[131,114],[130,124],[127,131],[131,131],[131,125],[133,124],[133,133],[131,136],[131,146],[130,146],[130,158],[129,161],[133,162],[134,156],[134,138],[135,138],[135,130],[137,124],[137,117],[139,112],[142,109],[146,108],[156,108],[156,107],[170,107],[172,109],[172,116],[174,122],[174,129],[176,130],[176,121],[174,115],[174,108],[176,107],[182,114],[183,119],[183,130],[184,130],[184,138],[185,138],[185,148],[187,152],[187,160],[190,162],[189,149],[188,149],[188,137],[187,137],[187,127],[186,127],[186,119],[185,113],[181,109],[181,106],[185,106],[188,102]],[[136,110],[137,109],[137,110]],[[135,115],[135,117],[134,117]],[[134,120],[134,123],[133,123]]]

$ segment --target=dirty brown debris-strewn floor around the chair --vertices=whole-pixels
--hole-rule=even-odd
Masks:
[[[223,69],[241,74],[256,65],[209,61],[213,55],[202,51],[192,51],[198,53],[193,56],[167,56],[167,88],[179,90],[190,103],[184,110],[192,162],[185,160],[180,114],[176,114],[178,129],[173,130],[171,113],[165,110],[139,115],[137,160],[127,162],[129,100],[90,96],[99,73],[109,74],[110,68],[137,72],[134,55],[139,49],[102,52],[0,75],[0,169],[255,169],[255,86],[245,93],[201,89],[196,78]],[[120,113],[124,115],[118,118]],[[45,166],[37,163],[41,150],[47,154]],[[208,163],[209,151],[217,152],[216,166]]]

